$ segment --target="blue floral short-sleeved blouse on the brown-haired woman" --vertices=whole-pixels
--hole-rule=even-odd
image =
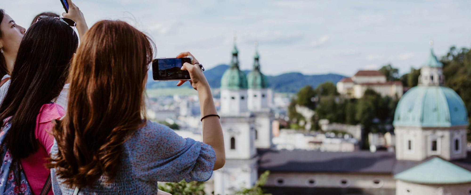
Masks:
[[[51,155],[57,154],[57,145]],[[121,168],[113,183],[102,176],[93,186],[81,188],[79,194],[157,194],[157,182],[206,181],[211,178],[216,154],[210,145],[182,138],[169,127],[147,122],[124,143]],[[54,195],[72,195],[69,188],[51,169]]]

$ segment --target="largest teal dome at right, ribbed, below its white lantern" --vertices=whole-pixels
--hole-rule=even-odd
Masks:
[[[441,86],[417,86],[399,100],[394,126],[452,127],[468,125],[463,100],[453,89]]]

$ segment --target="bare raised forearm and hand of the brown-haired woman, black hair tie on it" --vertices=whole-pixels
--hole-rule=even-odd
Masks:
[[[190,73],[191,86],[198,91],[198,97],[200,100],[201,117],[208,116],[211,114],[218,114],[216,106],[211,95],[211,88],[208,81],[204,77],[203,71],[201,70],[198,60],[191,55],[190,52],[180,53],[177,58],[180,57],[193,57],[193,64],[185,63],[182,66],[182,70],[187,70]],[[185,81],[180,81],[177,85],[180,86]],[[219,118],[215,115],[205,117],[203,120],[203,143],[212,146],[216,153],[216,162],[214,163],[213,170],[218,170],[226,163],[226,152],[224,151],[224,138],[222,135],[221,123]]]

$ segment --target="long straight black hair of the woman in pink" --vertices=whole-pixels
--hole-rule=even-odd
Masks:
[[[1,120],[13,116],[5,140],[14,159],[38,150],[36,117],[41,106],[57,98],[64,88],[78,43],[73,29],[57,18],[38,21],[24,35],[0,106]]]

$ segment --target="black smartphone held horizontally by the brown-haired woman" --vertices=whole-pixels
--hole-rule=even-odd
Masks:
[[[152,77],[154,81],[190,80],[190,73],[181,70],[183,64],[190,63],[191,58],[158,58],[152,61]]]

